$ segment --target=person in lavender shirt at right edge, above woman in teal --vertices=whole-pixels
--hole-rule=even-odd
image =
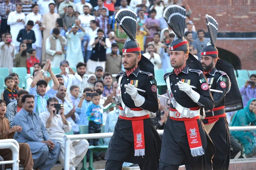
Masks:
[[[252,83],[254,82],[254,83]],[[250,75],[250,80],[246,81],[245,85],[240,88],[240,93],[243,96],[244,107],[250,99],[256,98],[256,74]]]

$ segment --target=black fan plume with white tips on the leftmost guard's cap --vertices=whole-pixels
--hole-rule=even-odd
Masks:
[[[115,20],[131,40],[136,39],[137,14],[134,11],[130,9],[121,9],[116,13]]]

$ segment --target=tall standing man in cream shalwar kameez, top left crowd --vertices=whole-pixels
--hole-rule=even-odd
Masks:
[[[41,62],[43,62],[43,63],[46,61],[46,59],[49,59],[49,58],[46,58],[46,55],[47,55],[47,49],[46,49],[47,38],[51,36],[50,31],[55,27],[56,21],[60,17],[59,14],[55,13],[54,9],[55,9],[55,4],[54,3],[49,3],[49,12],[45,13],[42,17],[41,30],[44,30],[43,31],[44,43],[42,45],[43,53],[42,53],[42,57],[41,57]],[[58,33],[58,34],[60,34],[60,33]],[[61,54],[59,54],[59,55],[61,55]],[[55,67],[54,64],[52,66]]]

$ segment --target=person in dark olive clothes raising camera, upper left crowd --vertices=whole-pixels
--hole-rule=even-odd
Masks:
[[[20,43],[20,51],[15,54],[14,62],[15,67],[25,67],[27,68],[27,59],[29,58],[29,53],[26,51],[27,46],[26,43]]]

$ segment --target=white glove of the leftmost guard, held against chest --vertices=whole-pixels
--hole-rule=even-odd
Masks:
[[[145,98],[138,94],[137,89],[130,83],[127,85],[125,92],[131,96],[136,107],[140,107],[145,102]]]

